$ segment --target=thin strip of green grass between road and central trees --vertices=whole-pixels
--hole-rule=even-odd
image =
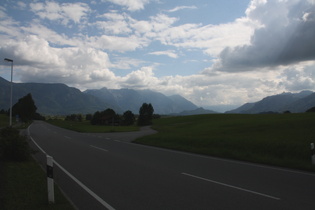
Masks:
[[[48,123],[77,131],[82,133],[109,133],[109,132],[131,132],[138,131],[138,126],[104,126],[104,125],[91,125],[90,121],[75,122],[75,121],[66,121],[66,120],[47,120]]]

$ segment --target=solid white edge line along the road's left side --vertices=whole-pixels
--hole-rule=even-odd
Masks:
[[[31,137],[30,135],[30,126],[28,127],[28,135],[32,142],[44,153],[47,154]],[[93,198],[95,198],[98,202],[100,202],[103,206],[105,206],[108,210],[115,210],[111,205],[109,205],[106,201],[104,201],[101,197],[99,197],[97,194],[95,194],[92,190],[90,190],[87,186],[85,186],[82,182],[80,182],[77,178],[75,178],[72,174],[70,174],[66,169],[64,169],[59,163],[57,163],[55,160],[54,164],[56,164],[65,174],[67,174],[73,181],[75,181],[80,187],[82,187],[87,193],[89,193]]]

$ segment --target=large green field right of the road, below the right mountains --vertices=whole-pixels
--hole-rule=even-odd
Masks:
[[[315,114],[210,114],[153,122],[157,134],[135,142],[198,154],[315,171]]]

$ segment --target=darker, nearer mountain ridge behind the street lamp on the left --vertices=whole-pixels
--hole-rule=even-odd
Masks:
[[[18,99],[32,94],[37,112],[63,115],[70,113],[92,113],[108,106],[96,97],[82,93],[79,89],[64,84],[13,83],[13,104]],[[10,82],[0,77],[0,109],[10,107]]]

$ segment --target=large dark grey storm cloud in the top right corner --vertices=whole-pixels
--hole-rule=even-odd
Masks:
[[[315,59],[314,2],[254,0],[246,14],[262,27],[250,44],[225,48],[215,70],[251,71]]]

